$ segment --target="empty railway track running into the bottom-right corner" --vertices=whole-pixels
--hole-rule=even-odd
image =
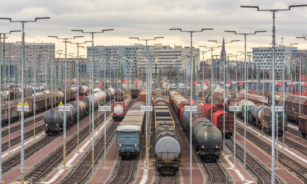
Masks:
[[[241,126],[236,126],[236,130],[244,135],[244,128]],[[266,143],[265,141],[261,140],[257,136],[251,134],[249,131],[246,131],[246,137],[252,140],[255,144],[257,144],[261,149],[271,155],[271,145]],[[276,150],[275,150],[276,153]],[[302,165],[301,163],[294,161],[287,155],[283,154],[282,152],[278,152],[278,161],[282,163],[286,168],[288,168],[292,173],[294,173],[300,180],[304,183],[307,183],[307,168]]]

